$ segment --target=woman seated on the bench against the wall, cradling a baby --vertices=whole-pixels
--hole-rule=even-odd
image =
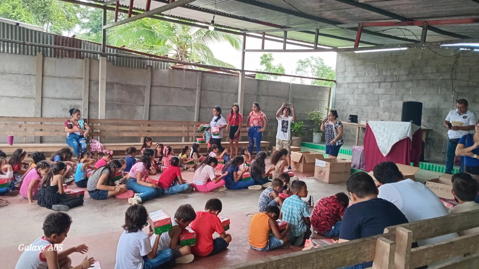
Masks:
[[[81,111],[76,108],[70,109],[71,119],[63,123],[67,132],[67,144],[73,148],[75,156],[78,158],[80,152],[87,150],[87,139],[91,132],[90,126],[81,119]]]

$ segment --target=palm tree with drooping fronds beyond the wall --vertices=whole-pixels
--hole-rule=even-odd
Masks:
[[[239,35],[149,18],[116,26],[107,37],[110,45],[220,67],[234,66],[215,58],[208,44],[226,41],[236,50],[242,46]]]

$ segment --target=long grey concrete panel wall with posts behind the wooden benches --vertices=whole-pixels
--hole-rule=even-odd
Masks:
[[[37,116],[67,119],[68,110],[75,107],[84,110],[83,117],[98,119],[101,60],[38,57],[0,53],[0,115],[35,116],[37,95],[42,100],[40,115]],[[41,89],[35,92],[38,78],[42,79]],[[86,79],[88,83],[84,84]],[[118,67],[106,62],[103,79],[106,87],[102,105],[106,119],[194,121],[197,89],[200,99],[197,112],[199,121],[209,122],[212,108],[217,105],[227,117],[231,105],[238,102],[239,78],[221,74]],[[147,85],[147,82],[150,84]],[[263,140],[274,143],[277,128],[275,113],[283,102],[295,104],[298,120],[304,120],[305,123],[303,140],[311,141],[311,123],[305,112],[327,106],[331,89],[247,78],[244,92],[245,121],[252,103],[259,102],[269,119]],[[165,142],[178,141],[176,137],[161,139]],[[110,137],[103,142],[137,140],[138,137]],[[63,134],[42,138],[42,142],[46,143],[64,141]]]

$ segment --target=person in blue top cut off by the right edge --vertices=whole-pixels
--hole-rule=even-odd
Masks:
[[[475,134],[465,134],[459,139],[456,156],[464,156],[465,172],[479,179],[479,123]]]

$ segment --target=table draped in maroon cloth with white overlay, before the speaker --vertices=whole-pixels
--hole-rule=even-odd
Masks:
[[[371,128],[370,124],[375,127]],[[408,124],[411,125],[408,126]],[[383,125],[382,129],[378,129],[378,125]],[[375,132],[373,129],[376,129]],[[380,135],[377,139],[375,133]],[[382,144],[378,146],[377,141],[380,139],[385,140],[388,145],[381,141]],[[410,165],[412,162],[415,167],[419,167],[421,153],[422,131],[419,126],[404,122],[368,122],[364,135],[365,170],[367,172],[372,171],[378,163],[385,161],[404,165]]]

